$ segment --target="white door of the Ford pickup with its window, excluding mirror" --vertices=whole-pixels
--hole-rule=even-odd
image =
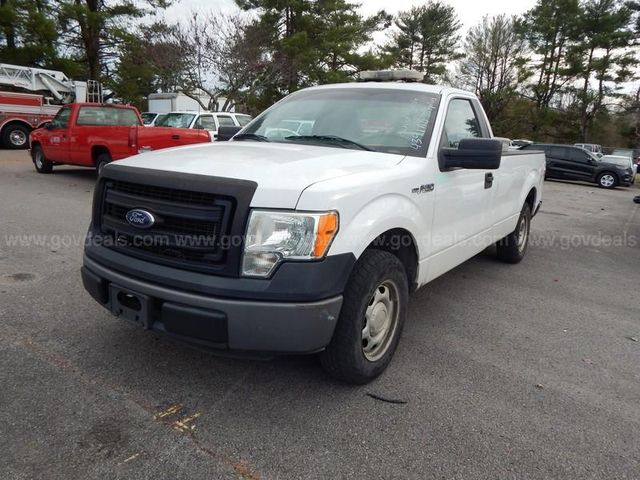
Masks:
[[[490,138],[481,107],[468,98],[450,99],[444,125],[435,135],[440,148],[457,148],[464,138]],[[435,278],[492,243],[492,202],[497,170],[440,170],[434,185],[432,227],[433,260],[429,277]]]

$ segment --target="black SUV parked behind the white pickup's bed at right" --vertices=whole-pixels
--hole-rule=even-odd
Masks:
[[[582,147],[533,143],[525,151],[541,150],[547,158],[546,177],[597,183],[602,188],[628,187],[633,169],[600,159]]]

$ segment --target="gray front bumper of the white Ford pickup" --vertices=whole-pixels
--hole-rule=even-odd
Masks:
[[[225,318],[226,342],[214,348],[261,353],[314,353],[324,349],[331,340],[342,307],[342,296],[317,302],[268,302],[214,298],[202,294],[170,289],[148,281],[132,278],[111,270],[85,255],[82,270],[85,289],[101,305],[110,308],[109,285],[148,296],[154,304],[171,304],[195,308],[206,318]],[[161,312],[162,309],[155,309]],[[165,332],[162,315],[148,322],[149,328]],[[204,344],[196,336],[184,338]]]

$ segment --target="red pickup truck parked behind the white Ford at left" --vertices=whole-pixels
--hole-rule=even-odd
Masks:
[[[51,122],[31,132],[33,164],[51,173],[58,164],[94,167],[149,150],[210,142],[207,130],[149,128],[128,105],[70,103]]]

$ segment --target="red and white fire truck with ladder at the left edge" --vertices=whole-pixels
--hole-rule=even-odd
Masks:
[[[31,130],[71,102],[102,103],[100,84],[74,81],[55,70],[0,63],[0,147],[28,148]]]

